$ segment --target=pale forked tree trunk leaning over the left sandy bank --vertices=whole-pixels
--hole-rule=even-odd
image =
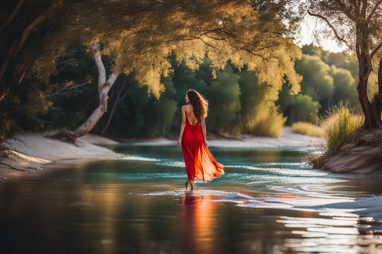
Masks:
[[[90,117],[88,117],[81,126],[79,126],[77,129],[73,131],[76,137],[81,137],[89,133],[89,131],[91,131],[94,128],[97,121],[107,111],[107,93],[109,92],[110,88],[113,86],[115,80],[118,78],[118,75],[119,75],[119,72],[115,71],[112,73],[112,75],[110,75],[110,78],[106,80],[106,70],[101,59],[99,45],[96,44],[93,46],[93,48],[96,50],[96,53],[94,54],[94,61],[95,61],[95,65],[97,65],[97,69],[99,73],[98,75],[99,105],[97,109],[95,109],[94,112],[90,115]]]

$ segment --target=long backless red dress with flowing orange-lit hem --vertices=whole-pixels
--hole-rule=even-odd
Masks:
[[[206,182],[224,174],[224,166],[215,160],[206,145],[204,145],[200,119],[196,124],[191,125],[187,113],[181,147],[189,179]]]

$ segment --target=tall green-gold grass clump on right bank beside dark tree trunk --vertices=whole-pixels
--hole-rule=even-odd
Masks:
[[[329,110],[329,116],[319,121],[324,128],[326,139],[326,152],[337,152],[337,149],[346,143],[352,142],[357,130],[362,125],[363,115],[354,113],[347,103],[342,102]]]

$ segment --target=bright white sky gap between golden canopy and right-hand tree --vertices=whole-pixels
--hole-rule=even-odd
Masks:
[[[299,38],[295,40],[295,43],[298,46],[302,46],[305,44],[311,44],[317,45],[317,43],[314,41],[313,38],[313,30],[314,26],[316,25],[316,17],[311,17],[308,14],[305,15],[304,20],[301,23],[301,35]],[[327,26],[326,23],[320,23],[317,22],[317,27]],[[338,47],[337,43],[334,40],[322,40],[320,45],[322,46],[324,50],[329,50],[330,52],[342,52],[345,50],[346,46],[342,46],[342,48]]]

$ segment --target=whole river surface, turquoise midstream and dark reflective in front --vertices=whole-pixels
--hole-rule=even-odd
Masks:
[[[179,147],[114,150],[0,183],[1,251],[382,253],[380,180],[311,169],[309,148],[211,148],[225,175],[194,192]]]

